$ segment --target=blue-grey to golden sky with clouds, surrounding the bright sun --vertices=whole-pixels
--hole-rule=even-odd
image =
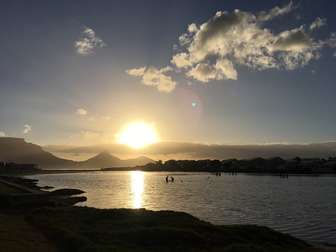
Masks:
[[[103,148],[155,160],[336,156],[335,5],[1,1],[0,137],[73,160]],[[159,142],[118,143],[134,122]]]

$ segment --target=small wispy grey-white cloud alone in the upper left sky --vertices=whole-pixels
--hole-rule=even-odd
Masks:
[[[74,42],[74,45],[78,55],[90,55],[94,53],[95,48],[106,46],[106,43],[92,29],[84,27],[84,31],[80,33],[80,38]]]

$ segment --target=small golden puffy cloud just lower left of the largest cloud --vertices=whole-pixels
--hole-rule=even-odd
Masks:
[[[164,73],[172,71],[171,66],[167,66],[164,69],[156,69],[154,66],[141,67],[139,69],[126,70],[126,73],[132,76],[142,76],[141,82],[144,85],[151,85],[157,87],[159,91],[172,92],[177,85],[176,81],[172,80],[170,76],[166,76]]]

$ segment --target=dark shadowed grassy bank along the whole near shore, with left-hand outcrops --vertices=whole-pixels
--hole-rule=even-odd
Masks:
[[[265,227],[212,225],[174,211],[73,207],[85,197],[64,197],[80,193],[55,190],[48,207],[0,208],[0,251],[323,251]]]

